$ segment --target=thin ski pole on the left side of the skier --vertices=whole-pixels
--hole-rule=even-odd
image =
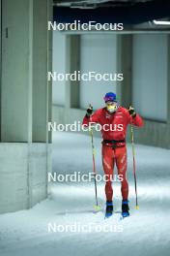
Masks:
[[[93,108],[92,105],[90,105],[90,108]],[[98,200],[98,188],[97,188],[97,172],[96,172],[96,163],[95,163],[95,145],[94,145],[94,133],[93,128],[90,126],[90,134],[91,134],[91,144],[92,144],[92,157],[93,157],[93,172],[95,175],[95,197],[96,197],[96,210],[99,210],[99,200]]]

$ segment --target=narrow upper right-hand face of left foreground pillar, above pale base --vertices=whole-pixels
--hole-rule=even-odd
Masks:
[[[46,121],[48,116],[47,92],[51,88],[46,81],[49,63],[48,37],[46,31],[47,2],[42,0],[33,1],[33,142],[46,142]],[[42,8],[43,6],[43,8]],[[40,8],[41,7],[41,8]],[[30,35],[31,36],[31,35]],[[50,68],[50,67],[49,67]],[[40,114],[41,113],[41,114]]]

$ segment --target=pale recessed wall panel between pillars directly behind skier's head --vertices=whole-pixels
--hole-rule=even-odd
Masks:
[[[117,35],[82,35],[80,40],[80,70],[82,73],[117,72]],[[94,109],[103,106],[105,91],[116,92],[116,81],[90,80],[80,82],[80,108],[93,103]]]

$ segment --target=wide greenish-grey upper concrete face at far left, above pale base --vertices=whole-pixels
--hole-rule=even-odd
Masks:
[[[15,16],[18,6],[22,12]],[[2,141],[7,137],[11,142],[27,141],[29,60],[25,56],[29,48],[28,10],[29,1],[2,1]]]

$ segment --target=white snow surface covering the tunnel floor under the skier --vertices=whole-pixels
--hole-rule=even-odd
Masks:
[[[95,138],[97,171],[102,174],[100,139]],[[170,150],[135,145],[139,209],[135,209],[131,145],[128,144],[130,216],[120,220],[120,183],[113,182],[114,210],[104,219],[95,213],[94,182],[50,183],[48,199],[29,210],[0,215],[1,256],[168,256],[170,251]],[[53,135],[53,172],[92,172],[91,139],[86,135]],[[116,174],[116,168],[115,168]],[[98,182],[99,204],[104,208],[104,183]],[[48,227],[63,225],[64,232]],[[91,232],[67,230],[73,225],[99,227]],[[103,227],[114,227],[104,232]]]

